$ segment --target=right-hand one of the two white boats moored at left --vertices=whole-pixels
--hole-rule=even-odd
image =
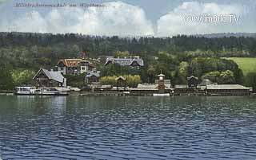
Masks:
[[[68,96],[69,92],[58,88],[38,88],[36,94],[41,96]]]

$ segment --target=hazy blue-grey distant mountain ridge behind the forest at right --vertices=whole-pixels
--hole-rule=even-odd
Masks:
[[[256,33],[210,33],[210,34],[196,34],[195,37],[254,37],[256,38]]]

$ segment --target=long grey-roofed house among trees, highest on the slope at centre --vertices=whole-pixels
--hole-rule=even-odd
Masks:
[[[108,64],[119,64],[121,66],[143,67],[144,61],[138,57],[106,57],[105,66]]]

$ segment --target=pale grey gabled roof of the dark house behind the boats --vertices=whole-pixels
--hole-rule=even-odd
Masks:
[[[33,80],[35,79],[36,76],[38,76],[38,73],[42,71],[45,73],[45,75],[50,79],[50,80],[55,80],[59,83],[64,82],[64,76],[62,76],[62,73],[59,71],[48,71],[47,69],[40,68],[39,71],[34,75]]]

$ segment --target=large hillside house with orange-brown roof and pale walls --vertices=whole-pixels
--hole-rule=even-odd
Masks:
[[[82,74],[94,68],[94,64],[85,59],[61,59],[58,60],[57,66],[59,72],[73,75]]]

